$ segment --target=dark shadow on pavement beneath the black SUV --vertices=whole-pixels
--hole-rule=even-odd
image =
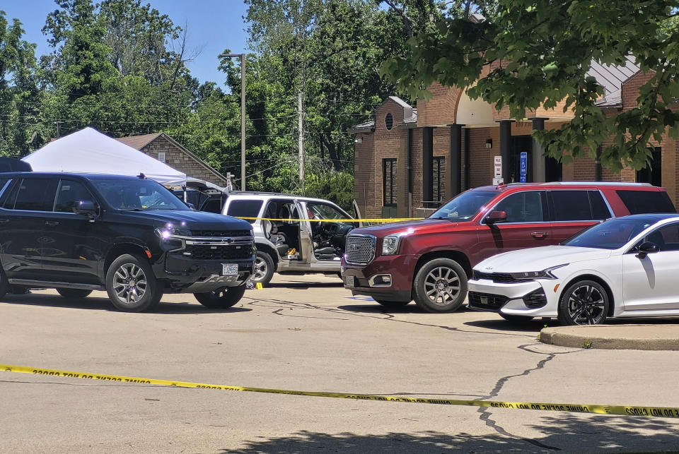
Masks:
[[[2,301],[8,304],[23,304],[24,306],[62,307],[66,309],[89,309],[95,311],[119,312],[108,298],[64,298],[52,294],[7,294]],[[163,303],[158,304],[156,309],[149,312],[140,312],[140,315],[153,313],[228,313],[250,312],[252,309],[244,307],[230,307],[228,309],[209,309],[197,303]]]

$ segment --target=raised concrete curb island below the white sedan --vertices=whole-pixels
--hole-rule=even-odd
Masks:
[[[540,342],[608,350],[679,350],[679,325],[555,326],[540,331]]]

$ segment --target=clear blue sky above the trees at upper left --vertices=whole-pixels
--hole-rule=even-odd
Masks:
[[[167,14],[175,25],[188,25],[188,47],[202,47],[202,52],[189,67],[192,76],[202,82],[212,80],[224,85],[224,74],[217,71],[217,56],[229,48],[234,54],[246,51],[245,5],[240,0],[142,0],[162,14]],[[58,6],[53,0],[1,0],[0,10],[8,20],[17,18],[26,31],[24,38],[37,44],[36,54],[51,52],[47,37],[42,35],[45,18]]]

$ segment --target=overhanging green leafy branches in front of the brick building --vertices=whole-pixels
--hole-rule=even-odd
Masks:
[[[679,28],[676,0],[604,2],[598,0],[499,0],[488,7],[492,20],[445,15],[434,31],[409,41],[407,54],[393,56],[382,73],[402,92],[428,97],[426,86],[468,88],[500,109],[509,106],[521,119],[527,109],[551,108],[565,100],[574,119],[556,131],[536,131],[549,154],[567,162],[593,153],[613,136],[601,153],[604,165],[639,169],[649,158],[650,141],[667,130],[679,136]],[[592,61],[624,65],[628,57],[651,80],[639,89],[638,106],[607,117],[596,101],[603,88],[587,76]],[[482,78],[482,68],[493,64]]]

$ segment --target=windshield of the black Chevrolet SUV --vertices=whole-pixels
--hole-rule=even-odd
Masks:
[[[147,179],[93,179],[109,205],[118,210],[189,210],[172,192]]]

